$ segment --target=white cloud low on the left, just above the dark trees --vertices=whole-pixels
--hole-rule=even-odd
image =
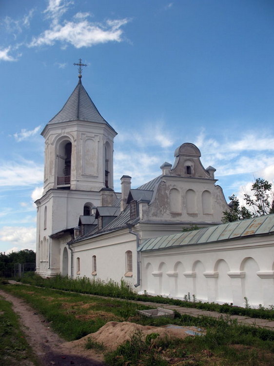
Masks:
[[[21,249],[35,250],[36,227],[3,226],[0,231],[0,242],[10,243],[12,245],[12,248],[8,249],[6,253]]]

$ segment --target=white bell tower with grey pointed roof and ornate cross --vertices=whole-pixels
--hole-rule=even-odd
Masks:
[[[84,207],[100,204],[102,188],[113,189],[113,140],[117,135],[78,84],[63,108],[44,127],[43,196],[36,201],[37,272],[59,273],[59,246],[68,242]]]

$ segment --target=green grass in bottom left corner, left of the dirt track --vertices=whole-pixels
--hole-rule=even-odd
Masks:
[[[29,365],[28,360],[38,365],[11,303],[0,297],[0,365]]]

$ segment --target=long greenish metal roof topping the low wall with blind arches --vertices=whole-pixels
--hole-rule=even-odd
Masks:
[[[215,243],[271,233],[274,233],[274,214],[146,239],[140,245],[139,250],[148,251],[181,245]]]

